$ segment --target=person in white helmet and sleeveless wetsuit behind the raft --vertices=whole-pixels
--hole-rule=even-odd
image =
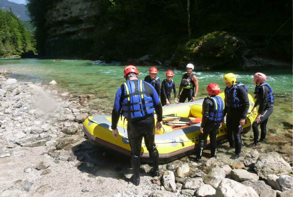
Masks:
[[[182,75],[181,83],[179,85],[179,92],[177,96],[179,98],[179,103],[184,103],[186,98],[188,98],[188,101],[196,99],[196,95],[197,95],[197,91],[199,87],[198,87],[197,77],[192,73],[193,69],[194,69],[193,64],[187,64],[186,73]],[[194,91],[194,87],[195,87],[195,91]],[[183,91],[180,95],[182,88],[183,88]]]

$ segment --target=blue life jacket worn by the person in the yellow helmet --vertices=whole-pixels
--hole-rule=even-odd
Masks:
[[[235,84],[231,88],[226,87],[225,88],[225,105],[227,107],[232,107],[232,108],[238,108],[242,106],[244,103],[241,103],[241,100],[237,97],[236,90],[240,87],[243,86],[246,89],[246,92],[248,93],[247,87],[239,82],[238,84]]]

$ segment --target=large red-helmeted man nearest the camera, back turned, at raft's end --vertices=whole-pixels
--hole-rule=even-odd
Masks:
[[[140,154],[142,137],[153,160],[154,176],[159,176],[159,152],[155,144],[155,119],[157,114],[156,129],[162,128],[162,106],[154,87],[138,79],[138,70],[129,65],[124,69],[126,82],[116,92],[112,111],[112,134],[117,137],[117,124],[120,114],[127,119],[127,135],[131,148],[131,165],[133,169],[133,184],[139,185]],[[122,118],[122,117],[121,117]]]

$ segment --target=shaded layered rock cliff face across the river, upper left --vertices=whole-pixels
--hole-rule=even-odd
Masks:
[[[98,1],[51,1],[45,14],[46,55],[91,57],[92,41],[89,38],[98,14]],[[86,55],[80,55],[80,50]]]

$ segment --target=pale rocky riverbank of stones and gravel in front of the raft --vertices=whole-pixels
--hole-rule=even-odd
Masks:
[[[106,111],[95,95],[6,79],[9,72],[0,71],[0,196],[292,196],[292,153],[255,150],[245,138],[237,160],[223,144],[218,159],[190,155],[160,165],[159,177],[143,164],[134,186],[129,159],[83,138],[82,122]]]

